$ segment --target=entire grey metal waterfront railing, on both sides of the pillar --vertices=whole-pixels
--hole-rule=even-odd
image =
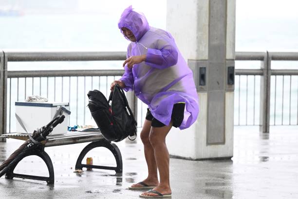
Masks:
[[[70,123],[85,123],[86,118],[91,117],[91,115],[88,115],[88,110],[86,111],[86,91],[103,89],[106,91],[106,95],[108,95],[110,82],[123,74],[123,70],[8,71],[8,62],[107,61],[125,59],[125,52],[0,51],[0,134],[7,132],[7,130],[10,132],[11,124],[15,122],[14,117],[12,117],[14,116],[12,114],[14,107],[12,102],[24,100],[29,94],[42,94],[48,98],[53,98],[53,100],[69,100],[70,109],[75,113],[71,115]],[[297,86],[294,85],[296,79],[298,79],[298,70],[273,70],[271,69],[271,62],[276,60],[298,61],[298,53],[236,52],[236,68],[238,65],[237,61],[259,61],[261,62],[261,67],[258,69],[235,70],[235,125],[260,125],[261,132],[269,132],[270,124],[277,125],[276,121],[280,118],[277,117],[277,115],[280,115],[279,111],[277,111],[277,107],[279,107],[277,96],[280,97],[278,95],[279,89],[277,89],[277,80],[279,77],[282,77],[283,85],[281,95],[281,125],[285,124],[283,120],[286,117],[286,111],[284,110],[284,96],[286,95],[290,96],[289,124],[298,125],[298,80]],[[284,92],[284,80],[287,80],[288,77],[290,78],[290,90]],[[271,78],[275,80],[273,84]],[[89,82],[89,86],[86,85],[86,81]],[[253,87],[251,86],[251,82],[253,82]],[[28,86],[29,84],[30,86]],[[84,93],[84,98],[83,100],[80,99],[80,101],[80,95],[78,93],[80,92],[79,86],[81,85],[83,85],[81,92]],[[54,92],[51,93],[49,92],[50,90]],[[16,95],[12,96],[14,91],[16,91]],[[295,96],[296,92],[297,97]],[[242,96],[243,93],[245,93],[245,97]],[[253,99],[251,96],[253,96]],[[142,126],[145,119],[143,117],[143,111],[146,111],[146,106],[139,100],[136,100],[132,92],[128,94],[128,99],[133,112],[139,116],[137,117],[139,126]],[[297,101],[297,105],[295,105],[295,100]],[[270,108],[272,111],[270,111]],[[243,112],[245,112],[245,117],[242,117],[244,115]],[[271,119],[270,113],[272,116]],[[295,113],[297,113],[297,122],[293,122]],[[83,117],[81,117],[82,115]],[[250,121],[251,119],[253,119],[252,122]]]

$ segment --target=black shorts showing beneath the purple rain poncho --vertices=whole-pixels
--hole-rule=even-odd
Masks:
[[[172,122],[174,127],[179,127],[184,119],[184,108],[185,108],[185,103],[176,103],[173,106],[172,110]],[[153,127],[163,127],[166,126],[166,124],[162,123],[161,121],[157,120],[154,118],[149,110],[147,109],[147,115],[146,119],[149,121],[152,121],[151,126]]]

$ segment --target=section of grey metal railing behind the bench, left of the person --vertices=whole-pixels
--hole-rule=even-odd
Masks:
[[[110,81],[119,78],[124,70],[38,70],[38,71],[8,71],[8,62],[11,61],[108,61],[125,60],[126,52],[0,52],[0,135],[2,132],[11,132],[11,124],[15,122],[12,102],[25,100],[28,95],[41,95],[52,100],[70,101],[72,115],[70,121],[78,123],[78,118],[83,115],[83,124],[86,119],[87,89],[100,89],[105,85],[105,94],[108,96]],[[97,78],[97,85],[94,85]],[[86,79],[91,79],[91,86],[86,86]],[[28,86],[30,84],[30,86]],[[36,89],[36,84],[38,88]],[[83,90],[79,86],[84,84]],[[15,86],[13,86],[15,85]],[[30,88],[28,88],[30,87]],[[66,87],[66,88],[65,88]],[[16,95],[12,97],[12,91]],[[54,92],[49,92],[54,90]],[[59,90],[60,94],[56,92]],[[102,90],[102,89],[100,89]],[[84,93],[81,106],[78,104],[79,93]],[[51,95],[51,96],[50,96]],[[54,95],[54,96],[53,96]],[[64,97],[64,99],[63,99]],[[74,98],[73,98],[74,97]],[[134,100],[133,93],[127,95],[130,101]],[[134,111],[134,104],[130,104]],[[82,112],[78,114],[79,112]],[[91,115],[90,115],[91,118]],[[75,119],[75,120],[74,120]]]

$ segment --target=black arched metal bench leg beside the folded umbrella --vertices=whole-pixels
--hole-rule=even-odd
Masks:
[[[47,168],[49,171],[49,177],[15,174],[14,170],[16,166],[22,159],[24,159],[27,156],[40,157],[47,165]],[[44,147],[40,146],[36,149],[23,153],[21,156],[19,156],[15,164],[12,167],[10,167],[10,169],[6,172],[5,178],[6,179],[13,179],[13,178],[36,179],[36,180],[46,181],[48,184],[54,184],[55,178],[54,178],[54,167],[53,167],[52,160],[49,157],[49,155],[44,151]]]

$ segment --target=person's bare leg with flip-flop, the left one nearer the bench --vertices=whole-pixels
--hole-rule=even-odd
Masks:
[[[151,128],[151,121],[145,119],[140,137],[144,144],[145,159],[148,166],[148,177],[147,179],[144,179],[143,182],[148,184],[149,186],[157,186],[158,185],[157,165],[154,157],[154,151],[149,141],[150,128]],[[131,185],[131,187],[142,187],[142,186],[143,185],[141,184]]]

